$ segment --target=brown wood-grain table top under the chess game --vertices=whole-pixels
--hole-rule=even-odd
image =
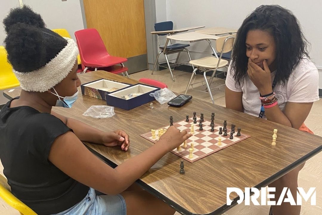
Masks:
[[[104,71],[80,74],[79,78],[82,83],[100,78],[138,83],[136,80]],[[18,88],[10,93],[8,91],[4,92],[6,97],[15,97],[20,92]],[[137,180],[147,191],[182,214],[222,214],[236,205],[239,199],[236,193],[231,193],[230,198],[234,201],[232,206],[227,206],[227,187],[238,187],[242,190],[245,187],[265,187],[322,150],[322,137],[195,98],[180,108],[160,105],[154,101],[153,109],[150,109],[149,103],[130,111],[115,108],[116,115],[111,118],[95,119],[82,115],[91,105],[104,104],[106,105],[102,100],[80,95],[71,109],[53,107],[53,110],[97,129],[123,129],[128,132],[131,147],[127,152],[117,147],[85,143],[91,151],[98,152],[112,166],[149,148],[153,143],[139,135],[167,125],[170,115],[176,122],[195,111],[197,114],[204,113],[205,119],[210,120],[211,112],[214,112],[216,124],[227,120],[227,125],[234,123],[236,127],[242,127],[242,133],[251,135],[242,142],[194,163],[185,161],[185,174],[179,173],[182,159],[169,152]],[[278,137],[276,146],[272,146],[275,128],[278,129]]]

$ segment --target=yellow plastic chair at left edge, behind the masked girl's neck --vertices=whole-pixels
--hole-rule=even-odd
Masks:
[[[12,66],[8,63],[7,55],[5,47],[0,46],[0,90],[20,85],[18,79],[12,72]]]

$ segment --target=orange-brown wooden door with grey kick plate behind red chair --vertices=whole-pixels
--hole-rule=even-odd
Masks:
[[[87,28],[98,30],[109,54],[128,58],[126,66],[130,73],[147,69],[143,0],[83,0],[83,3]]]

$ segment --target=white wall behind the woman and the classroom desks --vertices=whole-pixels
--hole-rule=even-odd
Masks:
[[[157,0],[156,0],[157,1]],[[298,18],[306,38],[312,44],[310,57],[320,69],[320,88],[322,88],[322,1],[321,0],[166,0],[167,20],[174,22],[174,28],[205,25],[239,28],[242,21],[257,6],[278,4],[291,10]],[[191,43],[189,50],[193,59],[211,53],[205,42]],[[181,56],[180,56],[181,58]]]

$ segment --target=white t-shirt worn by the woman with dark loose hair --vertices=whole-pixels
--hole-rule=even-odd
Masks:
[[[229,65],[226,86],[234,92],[243,92],[242,104],[245,113],[259,116],[261,107],[259,90],[252,83],[248,75],[241,85],[236,86],[233,78],[234,72],[231,65]],[[272,82],[276,72],[278,71],[271,73]],[[289,80],[284,85],[279,83],[274,86],[273,90],[275,96],[278,98],[280,109],[284,111],[287,102],[310,103],[319,100],[318,81],[319,75],[317,68],[308,58],[303,58],[293,69]],[[266,116],[264,115],[263,118],[266,118]]]

